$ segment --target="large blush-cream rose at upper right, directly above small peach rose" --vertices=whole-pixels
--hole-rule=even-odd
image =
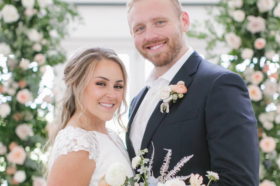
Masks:
[[[265,19],[258,16],[255,17],[253,15],[247,16],[248,19],[248,24],[247,24],[247,30],[251,33],[258,33],[265,31],[266,29],[266,24],[265,24]]]

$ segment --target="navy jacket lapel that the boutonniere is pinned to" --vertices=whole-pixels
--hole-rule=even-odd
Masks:
[[[190,77],[191,74],[194,74],[197,71],[197,67],[200,63],[202,58],[198,55],[197,52],[192,53],[192,55],[189,57],[189,59],[184,63],[184,65],[181,67],[181,69],[177,72],[177,74],[174,76],[174,78],[171,80],[170,85],[177,84],[178,81],[184,81],[185,86],[188,88],[190,83],[192,82],[192,78]],[[186,93],[186,96],[188,95],[188,92]],[[184,99],[184,98],[182,98]],[[141,143],[141,150],[148,147],[153,134],[155,133],[155,130],[157,129],[158,125],[162,121],[162,119],[165,117],[166,112],[161,113],[160,112],[160,105],[162,101],[160,101],[157,106],[155,107],[155,110],[153,111],[148,124],[146,126],[146,130],[142,139]],[[173,101],[169,103],[170,111],[172,112],[172,105]],[[175,103],[176,104],[176,103]]]

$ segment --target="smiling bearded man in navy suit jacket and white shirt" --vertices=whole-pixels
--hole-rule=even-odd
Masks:
[[[169,171],[184,156],[194,155],[176,176],[197,173],[206,183],[206,171],[214,171],[220,180],[213,186],[258,185],[257,121],[243,79],[187,45],[190,19],[178,0],[130,0],[127,9],[135,47],[155,66],[131,103],[126,135],[130,158],[145,148],[145,158],[150,158],[154,145],[155,178],[164,149],[171,149]],[[161,113],[157,89],[178,81],[188,91],[170,103],[169,113]]]

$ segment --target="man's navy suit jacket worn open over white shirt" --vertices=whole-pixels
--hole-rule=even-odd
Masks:
[[[177,72],[170,84],[184,81],[188,92],[176,103],[171,101],[169,113],[160,112],[160,101],[151,115],[141,142],[150,158],[155,147],[153,173],[171,149],[169,171],[181,158],[194,155],[176,176],[200,174],[208,183],[206,171],[217,172],[218,182],[212,186],[257,186],[259,183],[259,146],[257,121],[243,79],[218,65],[202,59],[197,52]],[[135,156],[129,140],[134,116],[148,88],[132,101],[126,134],[130,158]]]

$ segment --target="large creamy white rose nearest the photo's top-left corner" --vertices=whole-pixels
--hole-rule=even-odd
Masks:
[[[17,8],[15,8],[15,6],[13,5],[4,5],[1,13],[3,15],[3,21],[5,23],[13,23],[20,18],[20,15],[17,12]]]

